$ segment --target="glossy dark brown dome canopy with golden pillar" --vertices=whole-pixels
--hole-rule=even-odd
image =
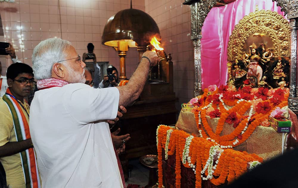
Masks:
[[[119,79],[126,79],[125,56],[129,47],[137,47],[140,57],[146,51],[153,36],[160,38],[159,28],[149,14],[142,10],[120,10],[108,19],[102,36],[102,44],[113,47],[120,57]]]

